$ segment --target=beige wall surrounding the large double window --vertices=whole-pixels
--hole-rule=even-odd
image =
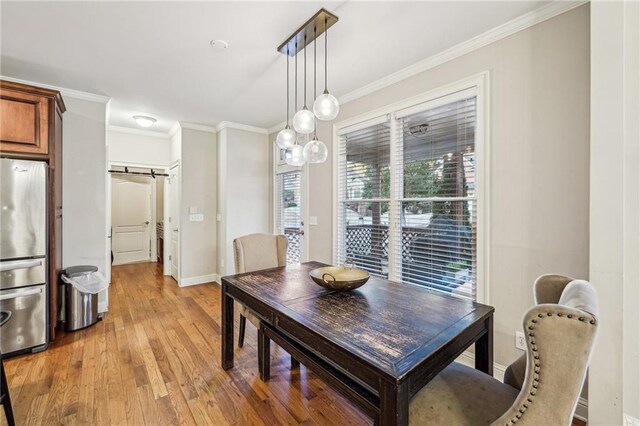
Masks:
[[[514,331],[533,304],[536,277],[588,278],[589,6],[585,5],[341,105],[337,121],[489,70],[489,304],[495,361],[522,352]],[[332,149],[332,124],[319,138]],[[335,172],[309,167],[309,259],[331,263]],[[229,239],[229,238],[228,238]]]

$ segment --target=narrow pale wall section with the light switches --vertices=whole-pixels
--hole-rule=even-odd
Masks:
[[[181,137],[181,285],[216,278],[216,134],[182,128]],[[204,215],[191,222],[190,209]]]

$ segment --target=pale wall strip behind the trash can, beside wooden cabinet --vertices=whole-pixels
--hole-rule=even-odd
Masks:
[[[106,104],[64,98],[62,139],[63,267],[95,265],[110,268],[107,259]],[[98,297],[107,308],[107,294]]]

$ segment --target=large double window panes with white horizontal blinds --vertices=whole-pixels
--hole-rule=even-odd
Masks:
[[[340,135],[337,261],[475,299],[476,97],[392,120]]]

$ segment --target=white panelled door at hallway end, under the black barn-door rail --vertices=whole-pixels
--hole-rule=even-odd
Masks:
[[[151,201],[149,179],[113,177],[111,223],[114,265],[151,260]]]

